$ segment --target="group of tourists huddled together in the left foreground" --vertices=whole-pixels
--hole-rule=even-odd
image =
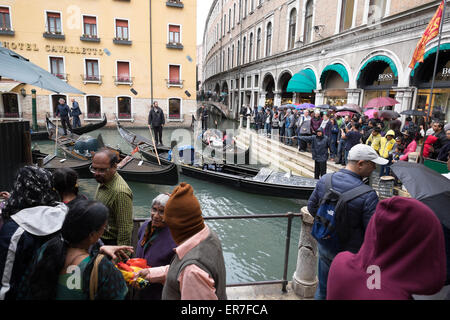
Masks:
[[[221,243],[192,186],[154,198],[133,243],[133,193],[117,160],[108,149],[94,155],[93,200],[70,168],[18,171],[0,193],[0,300],[226,299]],[[133,279],[150,285],[125,281],[117,266],[131,257],[150,267]]]

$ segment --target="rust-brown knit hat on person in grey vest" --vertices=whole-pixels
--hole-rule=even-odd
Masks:
[[[164,221],[177,244],[181,244],[205,227],[200,203],[194,196],[194,189],[190,184],[182,182],[172,191],[164,208]]]

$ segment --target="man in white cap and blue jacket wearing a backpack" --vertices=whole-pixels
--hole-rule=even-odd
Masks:
[[[308,210],[312,216],[316,217],[319,207],[322,205],[322,199],[329,191],[327,181],[329,175],[331,176],[331,189],[335,190],[341,195],[344,193],[353,194],[346,204],[345,219],[339,226],[339,235],[345,234],[345,239],[339,237],[339,245],[336,248],[330,243],[318,242],[319,247],[319,270],[318,278],[319,285],[315,294],[315,299],[326,299],[328,271],[330,270],[331,262],[334,257],[341,251],[350,251],[357,253],[364,241],[364,233],[369,223],[370,218],[375,212],[378,204],[378,195],[370,187],[362,186],[363,178],[369,177],[376,169],[376,165],[386,165],[387,159],[380,157],[377,152],[370,146],[365,144],[357,144],[350,149],[347,157],[348,163],[344,169],[332,174],[323,176],[316,185],[311,197],[308,200]],[[366,189],[361,193],[360,190]],[[349,192],[350,191],[350,192]],[[338,216],[336,214],[336,219]],[[345,230],[345,232],[342,232]]]

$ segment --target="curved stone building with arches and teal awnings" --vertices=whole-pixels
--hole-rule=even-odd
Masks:
[[[364,106],[380,96],[397,99],[396,111],[427,111],[438,38],[423,63],[408,65],[440,3],[216,0],[203,38],[203,89],[227,95],[236,117],[243,105]],[[447,121],[449,17],[447,10],[431,103]]]

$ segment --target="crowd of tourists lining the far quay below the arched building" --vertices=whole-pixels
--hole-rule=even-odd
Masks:
[[[383,165],[380,176],[389,175],[389,166],[421,152],[423,156],[446,162],[450,152],[450,125],[441,120],[426,122],[424,117],[400,119],[382,118],[378,112],[373,118],[357,112],[339,112],[321,109],[297,110],[278,107],[243,108],[246,120],[259,133],[273,136],[282,143],[297,147],[299,151],[310,151],[315,161],[315,178],[326,173],[326,162],[346,165],[350,149],[364,143],[373,149],[388,164]],[[245,121],[244,121],[245,122]]]

